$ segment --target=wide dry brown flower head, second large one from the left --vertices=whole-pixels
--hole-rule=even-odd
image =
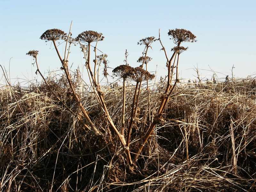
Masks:
[[[76,37],[76,41],[92,43],[97,41],[98,38],[99,38],[98,41],[102,41],[104,39],[104,36],[102,36],[102,33],[97,33],[96,31],[84,31]]]

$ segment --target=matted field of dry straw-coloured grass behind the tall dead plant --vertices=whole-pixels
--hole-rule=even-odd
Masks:
[[[66,78],[47,79],[68,108],[86,122]],[[166,82],[150,84],[157,110]],[[84,129],[45,83],[0,90],[0,190],[8,191],[255,191],[256,81],[178,83],[162,119],[133,169],[95,95],[74,83],[93,124]],[[145,86],[144,86],[145,87]],[[135,86],[126,86],[125,123]],[[102,86],[119,129],[122,86]],[[81,91],[82,90],[82,91]],[[147,89],[141,89],[130,150],[148,127]],[[88,123],[88,122],[86,122]],[[124,130],[124,135],[127,129]]]

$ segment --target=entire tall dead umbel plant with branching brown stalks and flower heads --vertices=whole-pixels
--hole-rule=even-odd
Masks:
[[[72,23],[71,23],[72,25]],[[71,37],[71,26],[69,29],[69,33],[66,34],[64,31],[60,30],[60,29],[49,29],[47,31],[45,31],[43,33],[43,35],[40,37],[41,39],[45,40],[45,41],[52,41],[55,50],[57,52],[57,55],[60,59],[60,62],[62,64],[62,69],[65,72],[65,76],[68,80],[68,84],[70,86],[70,89],[72,91],[72,95],[78,105],[78,107],[80,108],[80,110],[82,111],[82,114],[84,116],[84,118],[87,121],[86,125],[84,124],[84,122],[82,121],[81,118],[79,118],[78,115],[76,115],[75,112],[72,112],[71,109],[69,109],[67,107],[67,105],[57,96],[56,98],[61,101],[63,103],[63,105],[74,115],[77,117],[77,119],[79,120],[80,123],[83,124],[84,128],[86,128],[89,131],[93,131],[96,134],[100,134],[100,135],[104,135],[105,130],[102,129],[99,131],[99,129],[92,123],[90,117],[88,116],[86,110],[84,109],[84,106],[81,103],[81,100],[78,96],[78,94],[76,93],[75,90],[75,86],[71,80],[71,75],[69,73],[69,69],[68,69],[68,56],[69,56],[69,50],[70,50],[70,46],[71,44],[80,44],[80,48],[82,50],[82,52],[84,53],[84,59],[85,59],[85,67],[87,68],[87,72],[88,72],[88,78],[91,82],[92,88],[93,88],[93,93],[99,103],[100,108],[104,111],[105,113],[105,119],[107,121],[107,124],[110,125],[110,128],[112,128],[112,131],[115,133],[115,135],[118,137],[119,141],[121,142],[122,146],[123,146],[123,150],[124,153],[126,154],[127,157],[127,162],[129,165],[133,165],[138,157],[140,156],[140,153],[144,147],[144,145],[146,144],[146,142],[148,141],[148,139],[150,138],[150,135],[152,134],[155,126],[157,123],[161,122],[161,116],[163,113],[163,110],[167,104],[168,98],[171,95],[174,87],[176,86],[177,82],[178,82],[178,64],[179,64],[179,57],[180,54],[184,51],[186,51],[188,48],[182,47],[180,46],[181,43],[183,42],[195,42],[196,40],[196,36],[193,35],[190,31],[185,30],[185,29],[173,29],[173,30],[169,30],[168,35],[171,37],[171,39],[173,40],[174,44],[176,45],[174,48],[172,48],[172,56],[169,59],[167,56],[167,51],[165,50],[161,39],[160,39],[160,30],[159,30],[159,38],[156,39],[155,37],[151,36],[151,37],[146,37],[144,39],[141,39],[138,44],[140,45],[144,45],[144,50],[142,52],[142,57],[140,57],[138,59],[138,62],[141,63],[141,65],[139,67],[135,67],[132,68],[128,65],[128,63],[126,62],[126,65],[120,65],[116,68],[114,68],[113,73],[115,76],[117,77],[121,77],[123,80],[123,100],[122,100],[122,115],[121,117],[121,127],[120,129],[117,129],[116,125],[114,124],[114,121],[112,120],[109,112],[108,112],[108,108],[107,108],[107,104],[106,101],[104,99],[104,92],[102,91],[100,82],[99,82],[99,71],[100,71],[100,64],[101,62],[104,63],[104,69],[103,69],[103,75],[107,76],[107,60],[106,54],[101,54],[97,56],[97,45],[100,41],[102,41],[104,39],[104,36],[102,35],[102,33],[98,33],[96,31],[92,31],[92,30],[87,30],[84,31],[82,33],[80,33],[75,39]],[[66,42],[65,44],[65,52],[64,52],[64,59],[62,59],[60,52],[58,50],[58,47],[56,45],[56,41],[59,40],[63,40],[64,42]],[[148,62],[151,60],[150,57],[147,56],[148,54],[148,49],[151,48],[151,44],[153,42],[155,42],[156,40],[159,40],[161,46],[162,46],[162,50],[164,51],[164,55],[166,58],[166,63],[167,63],[167,68],[168,68],[168,82],[166,84],[165,87],[165,91],[161,96],[161,102],[158,108],[158,111],[156,114],[152,113],[151,115],[151,111],[150,111],[150,98],[149,98],[149,86],[148,86],[148,81],[152,80],[155,76],[153,74],[150,74],[148,72]],[[94,51],[94,60],[93,60],[93,64],[94,66],[91,66],[91,47],[93,47],[93,51]],[[68,53],[66,54],[66,51],[68,50]],[[47,84],[47,81],[45,80],[44,76],[41,74],[41,72],[39,71],[39,67],[37,64],[37,54],[38,51],[32,50],[30,52],[27,53],[28,55],[32,56],[35,60],[36,60],[36,65],[37,65],[37,71],[39,72],[39,74],[42,76],[42,78],[44,79],[44,82]],[[177,61],[176,61],[176,57],[177,57]],[[174,58],[174,61],[173,61]],[[144,64],[146,64],[146,70],[143,69]],[[175,66],[176,64],[176,66]],[[97,67],[98,65],[98,67]],[[174,74],[174,68],[176,67],[176,79],[174,81],[174,84],[172,85],[172,77]],[[132,80],[135,82],[135,90],[134,90],[134,94],[133,94],[133,98],[132,98],[132,106],[131,106],[131,115],[128,118],[129,119],[129,124],[126,126],[125,125],[125,107],[126,107],[126,80]],[[142,82],[146,81],[147,82],[147,94],[148,94],[148,125],[146,126],[146,133],[143,133],[141,135],[139,135],[139,138],[137,138],[140,142],[137,149],[132,149],[132,151],[135,152],[135,156],[132,159],[132,156],[130,154],[130,140],[132,137],[132,127],[134,124],[134,120],[135,117],[137,115],[137,111],[138,111],[138,105],[139,105],[139,101],[140,101],[140,91],[141,91],[141,87],[142,87]],[[48,85],[48,84],[47,84]],[[52,90],[51,90],[52,91]],[[52,91],[53,92],[53,91]],[[54,93],[54,92],[53,92]],[[151,116],[153,119],[151,119]],[[115,121],[116,122],[116,121]],[[126,129],[127,128],[127,129]],[[102,133],[101,133],[102,132]],[[126,135],[126,139],[124,137],[125,133],[127,133]],[[136,145],[135,145],[136,146]]]

